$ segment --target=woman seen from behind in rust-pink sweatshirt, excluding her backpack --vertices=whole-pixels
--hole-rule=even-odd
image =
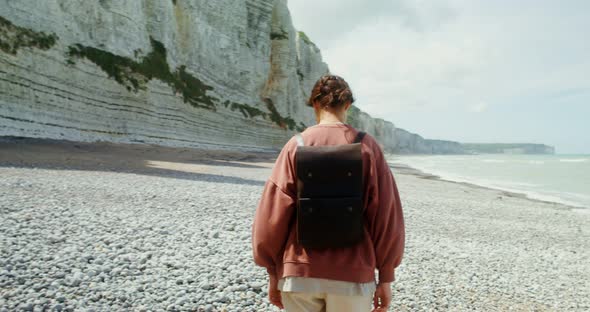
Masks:
[[[307,103],[317,124],[301,133],[305,145],[353,142],[358,131],[345,123],[354,98],[344,79],[327,75]],[[379,144],[361,141],[365,238],[346,248],[306,249],[297,244],[295,136],[285,144],[267,180],[252,226],[254,261],[269,274],[272,304],[287,311],[387,311],[394,269],[400,264],[405,232],[402,206]],[[375,270],[378,279],[375,281]]]

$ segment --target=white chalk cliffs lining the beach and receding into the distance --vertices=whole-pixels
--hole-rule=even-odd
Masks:
[[[0,136],[276,150],[328,73],[286,0],[0,0]],[[390,153],[552,152],[428,140],[353,107]]]

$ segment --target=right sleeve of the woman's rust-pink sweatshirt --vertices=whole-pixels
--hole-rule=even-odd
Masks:
[[[379,282],[395,280],[394,270],[401,263],[405,227],[402,204],[395,179],[381,148],[374,145],[374,158],[368,178],[368,230],[375,248]]]

